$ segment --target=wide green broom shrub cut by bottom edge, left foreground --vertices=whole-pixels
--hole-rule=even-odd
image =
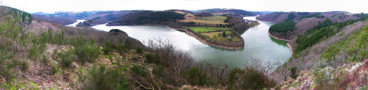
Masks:
[[[93,65],[87,68],[85,75],[83,71],[78,74],[78,88],[87,90],[116,90],[127,89],[127,80],[123,72],[116,68],[105,65]]]

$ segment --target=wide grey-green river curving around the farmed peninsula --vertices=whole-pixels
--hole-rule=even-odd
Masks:
[[[244,19],[256,20],[255,17],[244,17]],[[258,21],[261,24],[245,30],[242,33],[245,45],[240,50],[228,50],[213,47],[199,42],[194,37],[186,35],[179,30],[170,29],[165,26],[133,25],[133,26],[106,26],[96,25],[93,28],[109,31],[110,29],[120,29],[128,33],[129,36],[145,40],[153,37],[161,37],[163,40],[170,40],[178,49],[190,51],[196,60],[226,60],[231,67],[243,67],[251,58],[264,61],[277,61],[280,58],[291,57],[290,49],[286,45],[287,41],[277,40],[268,35],[268,29],[274,25],[271,22]]]

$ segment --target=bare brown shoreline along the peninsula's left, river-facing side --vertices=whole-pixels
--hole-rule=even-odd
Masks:
[[[135,24],[135,25],[153,25],[153,24]],[[167,28],[171,28],[167,25],[153,25],[153,26],[166,26]],[[179,29],[179,30],[184,30],[185,33],[188,36],[194,37],[195,39],[197,39],[199,42],[204,43],[204,44],[208,44],[210,46],[215,46],[215,47],[221,47],[221,48],[226,48],[226,49],[230,49],[230,50],[238,50],[238,49],[242,49],[244,47],[229,47],[229,46],[222,46],[222,45],[216,45],[216,44],[212,44],[212,43],[208,43],[206,42],[206,40],[198,37],[197,35],[194,35],[194,33],[189,32],[187,29],[182,29],[182,28],[171,28],[171,29]]]

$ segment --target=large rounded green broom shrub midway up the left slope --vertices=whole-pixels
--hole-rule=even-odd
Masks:
[[[89,41],[88,44],[84,43],[86,39],[79,37],[74,40],[74,54],[77,55],[78,61],[84,62],[94,62],[96,58],[100,55],[100,46],[95,45],[94,41]]]

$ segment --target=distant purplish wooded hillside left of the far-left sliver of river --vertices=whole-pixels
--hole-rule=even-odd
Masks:
[[[68,25],[68,24],[73,24],[74,22],[77,22],[76,20],[72,18],[49,17],[49,16],[38,15],[38,14],[32,14],[32,18],[33,20],[36,20],[36,21],[44,21],[48,23],[61,24],[61,25]]]

